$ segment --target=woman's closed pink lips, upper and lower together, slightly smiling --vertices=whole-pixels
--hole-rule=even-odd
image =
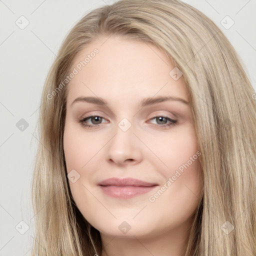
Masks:
[[[155,188],[158,184],[130,177],[112,177],[100,181],[97,185],[108,196],[120,199],[128,199],[140,194],[147,193]]]

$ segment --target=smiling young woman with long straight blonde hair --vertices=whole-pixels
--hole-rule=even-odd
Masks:
[[[89,12],[44,85],[32,255],[255,255],[253,95],[188,4]]]

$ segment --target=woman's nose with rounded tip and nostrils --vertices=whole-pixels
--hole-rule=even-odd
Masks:
[[[133,133],[132,125],[126,131],[120,127],[116,125],[115,134],[107,143],[106,160],[119,166],[136,164],[142,159],[142,143]]]

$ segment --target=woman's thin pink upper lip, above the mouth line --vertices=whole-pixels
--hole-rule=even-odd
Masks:
[[[118,178],[112,177],[107,178],[100,181],[97,185],[107,186],[107,185],[115,185],[115,186],[153,186],[157,185],[156,183],[146,182],[136,178]]]

